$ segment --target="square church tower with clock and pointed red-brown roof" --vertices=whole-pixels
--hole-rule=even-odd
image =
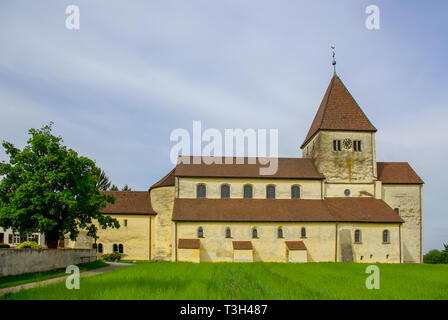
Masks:
[[[334,74],[301,145],[327,183],[373,184],[377,180],[376,128]]]

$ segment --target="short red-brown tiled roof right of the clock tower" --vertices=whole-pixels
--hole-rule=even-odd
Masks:
[[[377,162],[376,167],[378,180],[381,180],[382,183],[424,183],[407,162]]]

